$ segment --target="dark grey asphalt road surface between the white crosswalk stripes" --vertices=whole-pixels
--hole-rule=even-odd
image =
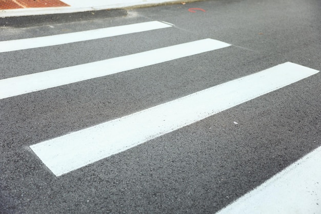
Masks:
[[[63,176],[29,146],[285,62],[321,70],[320,11],[318,0],[217,0],[7,20],[0,41],[148,21],[175,26],[0,53],[0,79],[204,38],[231,46],[0,100],[0,213],[215,213],[232,203],[321,145],[320,73]]]

